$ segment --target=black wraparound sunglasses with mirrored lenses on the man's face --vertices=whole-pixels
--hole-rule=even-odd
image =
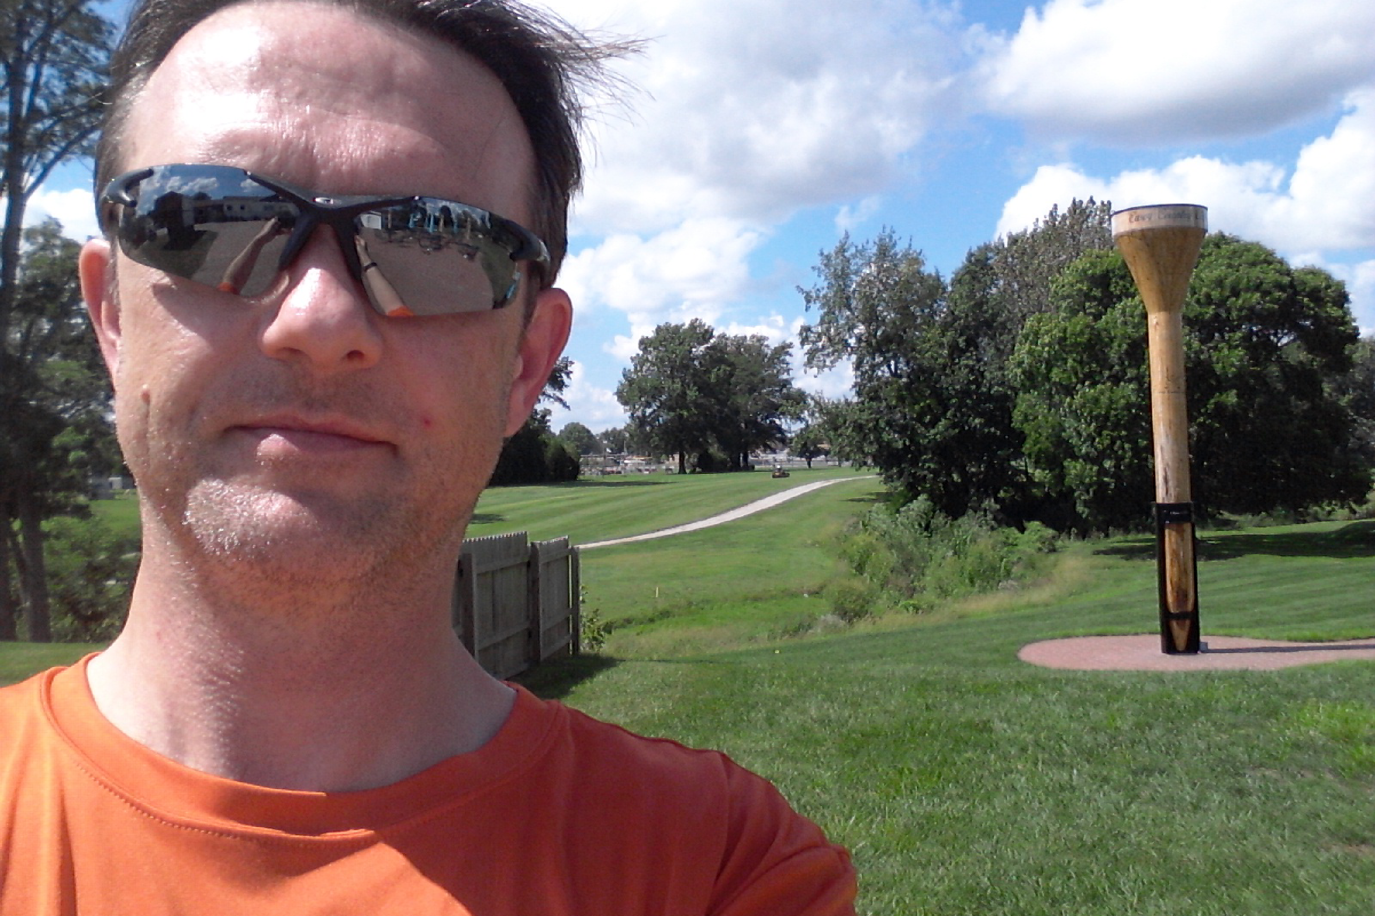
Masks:
[[[102,195],[120,249],[139,264],[226,293],[263,295],[319,225],[388,316],[499,309],[544,243],[487,210],[421,196],[324,196],[223,165],[157,165]]]

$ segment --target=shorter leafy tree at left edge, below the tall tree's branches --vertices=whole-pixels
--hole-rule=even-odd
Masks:
[[[110,386],[77,282],[78,249],[54,220],[25,232],[0,349],[0,639],[16,636],[11,569],[29,639],[50,639],[43,522],[84,511],[91,474],[118,464]]]

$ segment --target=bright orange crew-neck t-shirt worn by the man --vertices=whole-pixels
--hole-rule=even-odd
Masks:
[[[767,781],[520,688],[472,754],[297,792],[148,751],[85,663],[0,691],[0,916],[854,912],[848,856]]]

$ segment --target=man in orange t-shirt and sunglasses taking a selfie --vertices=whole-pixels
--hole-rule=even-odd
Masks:
[[[109,650],[0,692],[0,913],[852,912],[767,783],[450,629],[598,54],[492,0],[135,12],[80,269],[143,562]]]

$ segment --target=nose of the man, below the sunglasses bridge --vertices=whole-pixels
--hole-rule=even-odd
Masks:
[[[340,243],[333,228],[316,227],[287,266],[287,288],[260,334],[268,356],[316,372],[377,364],[381,316],[349,272]]]

